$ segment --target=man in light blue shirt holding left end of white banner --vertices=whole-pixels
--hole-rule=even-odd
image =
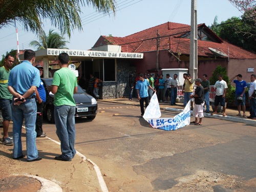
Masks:
[[[141,111],[141,117],[144,115],[144,101],[145,101],[145,107],[148,105],[148,92],[147,87],[154,92],[156,92],[151,86],[150,83],[143,78],[143,74],[139,74],[139,80],[136,83],[136,91],[138,95],[138,99],[140,101],[140,111]]]

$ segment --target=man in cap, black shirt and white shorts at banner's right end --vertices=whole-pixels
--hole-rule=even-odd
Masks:
[[[204,116],[204,88],[201,85],[202,80],[200,78],[196,79],[195,82],[197,89],[194,95],[190,95],[190,98],[195,99],[195,108],[193,110],[193,116],[195,117],[195,121],[193,121],[192,123],[195,123],[196,125],[202,125],[202,119]],[[199,121],[197,117],[199,117]]]

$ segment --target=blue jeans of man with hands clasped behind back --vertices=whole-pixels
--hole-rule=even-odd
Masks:
[[[26,145],[27,145],[27,160],[33,160],[38,157],[36,148],[36,102],[35,99],[26,99],[26,102],[19,106],[14,105],[12,101],[12,119],[13,119],[13,158],[23,155],[22,153],[22,125],[25,118],[26,127]]]

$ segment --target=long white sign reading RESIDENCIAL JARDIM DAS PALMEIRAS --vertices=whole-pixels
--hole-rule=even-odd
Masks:
[[[143,53],[84,51],[84,50],[69,50],[69,49],[47,49],[47,55],[57,56],[60,53],[68,53],[70,56],[83,56],[83,57],[143,59]]]

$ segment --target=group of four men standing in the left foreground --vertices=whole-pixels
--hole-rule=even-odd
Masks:
[[[42,131],[42,109],[46,101],[46,91],[40,79],[43,68],[35,63],[35,52],[26,50],[24,61],[12,68],[14,57],[6,55],[4,66],[0,67],[0,106],[3,116],[2,144],[13,145],[13,159],[24,158],[22,147],[22,127],[25,121],[27,162],[39,161],[36,138],[46,137]],[[75,106],[73,94],[77,92],[77,78],[68,69],[69,55],[58,56],[60,70],[53,77],[52,86],[47,89],[54,94],[54,117],[56,134],[61,142],[61,155],[55,160],[71,161],[76,151]],[[12,68],[12,70],[11,70]],[[8,134],[9,123],[13,121],[12,134]]]

